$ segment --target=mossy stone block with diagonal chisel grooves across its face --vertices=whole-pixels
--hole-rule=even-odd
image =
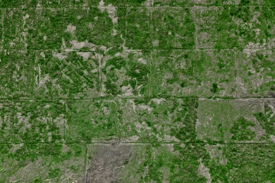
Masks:
[[[97,54],[82,51],[36,51],[35,96],[39,99],[99,97]]]

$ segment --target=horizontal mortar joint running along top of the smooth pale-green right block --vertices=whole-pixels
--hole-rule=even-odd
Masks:
[[[90,99],[68,99],[68,98],[59,98],[59,99],[0,99],[0,101],[115,101],[115,100],[135,100],[135,99],[229,99],[229,100],[239,100],[239,99],[275,99],[275,97],[221,97],[221,96],[210,96],[210,97],[201,97],[201,96],[148,96],[148,97],[114,97],[114,98],[90,98]]]

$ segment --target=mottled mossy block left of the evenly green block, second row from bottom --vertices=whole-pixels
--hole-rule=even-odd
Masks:
[[[64,141],[66,127],[63,101],[14,102],[14,143],[60,143]]]

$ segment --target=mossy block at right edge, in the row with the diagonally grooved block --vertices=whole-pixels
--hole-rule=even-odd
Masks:
[[[238,53],[239,96],[275,96],[274,58],[273,49],[245,49]]]

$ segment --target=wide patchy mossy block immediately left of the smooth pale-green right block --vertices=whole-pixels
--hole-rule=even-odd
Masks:
[[[194,141],[196,108],[197,99],[121,101],[121,141]]]

